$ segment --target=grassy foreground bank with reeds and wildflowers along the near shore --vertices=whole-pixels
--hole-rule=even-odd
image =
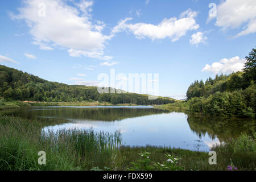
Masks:
[[[39,122],[2,117],[0,170],[227,170],[230,158],[238,170],[256,169],[255,135],[254,138],[242,135],[225,146],[215,147],[217,165],[209,165],[207,152],[152,146],[120,147],[121,142],[118,132],[60,130],[42,133]],[[39,151],[46,152],[46,165],[38,164]]]

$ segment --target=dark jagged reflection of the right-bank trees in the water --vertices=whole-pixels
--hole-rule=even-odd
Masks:
[[[251,134],[255,130],[255,120],[245,118],[199,117],[188,115],[188,124],[193,132],[201,137],[208,134],[220,142],[237,138],[241,133]]]

